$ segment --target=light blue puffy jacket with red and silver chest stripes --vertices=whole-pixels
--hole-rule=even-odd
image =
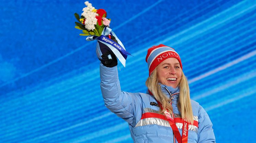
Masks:
[[[136,143],[173,143],[173,131],[168,121],[159,117],[147,117],[158,113],[157,101],[149,94],[121,91],[117,67],[107,68],[100,64],[101,91],[105,106],[129,124],[131,137]],[[166,89],[162,91],[170,98]],[[174,94],[171,92],[171,94]],[[180,117],[177,109],[178,94],[173,95],[173,113]],[[156,103],[156,104],[155,104]],[[211,120],[196,101],[191,100],[194,125],[188,126],[188,143],[215,142]],[[198,126],[196,125],[198,123]],[[176,126],[182,133],[182,123]],[[177,143],[177,140],[176,140]]]

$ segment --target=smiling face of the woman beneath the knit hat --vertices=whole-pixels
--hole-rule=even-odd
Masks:
[[[161,84],[176,88],[181,81],[182,69],[176,58],[168,58],[159,64],[156,73]]]

